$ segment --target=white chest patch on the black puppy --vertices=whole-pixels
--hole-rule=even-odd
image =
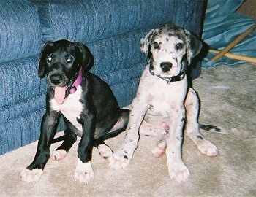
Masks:
[[[60,111],[79,131],[82,131],[82,125],[78,123],[80,113],[83,110],[83,105],[79,101],[81,95],[82,88],[79,85],[75,93],[69,94],[63,104],[58,104],[55,99],[50,101],[51,109]]]

